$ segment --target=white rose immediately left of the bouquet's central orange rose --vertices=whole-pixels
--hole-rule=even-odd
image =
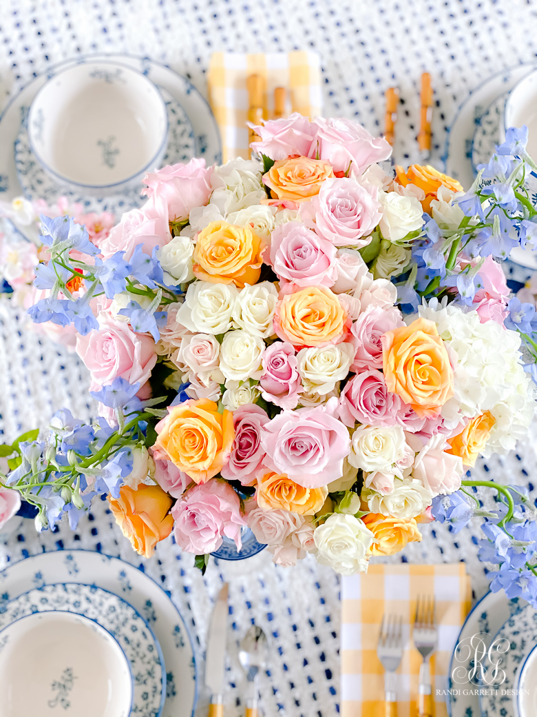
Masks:
[[[273,318],[278,303],[278,292],[270,281],[248,286],[238,293],[233,311],[236,326],[251,333],[252,336],[269,338],[274,334]]]

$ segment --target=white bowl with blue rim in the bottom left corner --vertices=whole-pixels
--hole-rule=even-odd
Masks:
[[[125,652],[95,620],[35,612],[0,632],[2,717],[128,717],[132,693]]]

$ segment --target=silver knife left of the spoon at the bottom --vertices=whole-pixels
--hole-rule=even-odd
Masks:
[[[205,685],[211,690],[209,717],[223,716],[223,683],[226,668],[228,584],[224,583],[213,608],[205,652]]]

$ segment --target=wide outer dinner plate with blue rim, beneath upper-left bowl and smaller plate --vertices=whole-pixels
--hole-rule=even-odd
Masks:
[[[185,110],[190,125],[194,128],[195,156],[203,157],[208,164],[221,162],[221,141],[218,125],[203,95],[196,90],[185,77],[147,57],[134,57],[125,54],[98,54],[74,57],[50,67],[43,75],[34,77],[23,89],[11,98],[0,115],[0,199],[11,201],[22,192],[16,174],[14,143],[21,126],[21,108],[31,105],[32,99],[47,80],[58,70],[63,70],[79,62],[93,60],[117,60],[122,65],[143,72],[155,85],[168,92]],[[14,227],[24,237],[32,239],[32,234],[24,227]]]

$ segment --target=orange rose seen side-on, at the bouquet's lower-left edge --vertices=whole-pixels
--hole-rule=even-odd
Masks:
[[[160,485],[139,485],[136,490],[122,485],[120,497],[108,496],[110,510],[121,532],[139,555],[150,558],[155,545],[168,538],[173,517],[168,513],[175,501]]]

